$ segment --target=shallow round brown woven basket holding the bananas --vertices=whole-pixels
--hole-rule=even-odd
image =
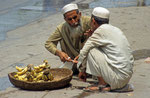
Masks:
[[[66,68],[52,68],[50,69],[54,76],[54,80],[45,82],[27,82],[14,78],[15,72],[9,73],[10,82],[21,89],[26,90],[52,90],[67,86],[72,79],[72,70]]]

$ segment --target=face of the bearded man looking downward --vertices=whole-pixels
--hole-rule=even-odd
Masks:
[[[70,11],[65,14],[65,20],[72,27],[77,27],[80,24],[81,13],[77,13],[76,10]]]

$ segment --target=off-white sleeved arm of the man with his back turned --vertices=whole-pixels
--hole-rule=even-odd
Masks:
[[[80,50],[80,54],[79,54],[79,59],[78,59],[78,64],[77,64],[77,68],[80,70],[83,68],[85,68],[85,65],[83,66],[83,61],[84,59],[87,57],[88,52],[90,51],[90,49],[95,48],[95,47],[100,47],[105,45],[105,41],[103,40],[103,35],[100,34],[101,31],[95,31],[91,37],[89,37],[89,39],[87,40],[87,42],[85,43],[84,47]],[[82,64],[82,65],[81,65]]]

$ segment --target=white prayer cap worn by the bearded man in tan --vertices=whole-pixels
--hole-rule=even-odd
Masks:
[[[65,14],[69,11],[77,10],[77,9],[78,9],[77,4],[67,4],[62,8],[62,12],[63,12],[63,14]]]

